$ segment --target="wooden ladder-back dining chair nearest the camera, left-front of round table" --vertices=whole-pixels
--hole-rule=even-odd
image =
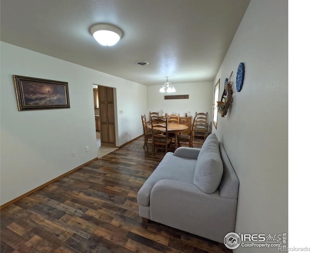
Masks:
[[[172,138],[167,135],[168,122],[162,118],[151,118],[152,126],[152,155],[155,149],[165,150],[165,153],[171,149]]]

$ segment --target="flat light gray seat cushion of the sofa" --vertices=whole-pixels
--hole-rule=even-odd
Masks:
[[[137,194],[138,203],[148,206],[153,186],[162,179],[193,184],[196,162],[196,159],[178,157],[174,156],[172,152],[167,152],[163,160],[140,188]]]

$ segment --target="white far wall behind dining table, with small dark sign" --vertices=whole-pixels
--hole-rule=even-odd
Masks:
[[[182,117],[190,112],[193,118],[195,112],[208,112],[208,122],[212,120],[213,82],[173,84],[175,93],[160,93],[161,86],[147,86],[147,119],[150,112],[161,114],[165,110],[168,114],[176,112]],[[189,99],[165,100],[165,95],[189,95]]]

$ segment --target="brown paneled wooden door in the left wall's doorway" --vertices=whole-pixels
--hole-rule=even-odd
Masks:
[[[101,145],[115,146],[113,88],[98,85]]]

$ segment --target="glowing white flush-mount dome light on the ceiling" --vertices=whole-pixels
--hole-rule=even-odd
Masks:
[[[91,34],[102,46],[113,46],[120,40],[122,31],[112,25],[99,24],[91,28]]]

